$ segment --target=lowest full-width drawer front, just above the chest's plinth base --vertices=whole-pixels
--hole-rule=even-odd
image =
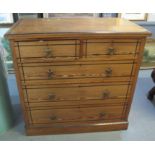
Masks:
[[[121,119],[123,106],[32,110],[32,123],[104,121]]]

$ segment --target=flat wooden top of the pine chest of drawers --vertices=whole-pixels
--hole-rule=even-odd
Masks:
[[[151,33],[121,18],[52,18],[19,20],[6,34],[9,39],[32,35],[143,35]]]

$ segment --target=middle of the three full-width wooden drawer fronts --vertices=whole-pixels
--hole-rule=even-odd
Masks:
[[[128,85],[67,85],[65,87],[27,89],[25,102],[106,100],[126,98]]]

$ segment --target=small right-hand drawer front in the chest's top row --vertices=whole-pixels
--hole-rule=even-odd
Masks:
[[[86,43],[87,58],[134,58],[137,51],[137,42],[123,40],[91,40]]]

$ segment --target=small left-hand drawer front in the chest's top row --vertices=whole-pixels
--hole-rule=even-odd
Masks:
[[[75,58],[78,54],[78,41],[20,42],[16,47],[17,58]]]

